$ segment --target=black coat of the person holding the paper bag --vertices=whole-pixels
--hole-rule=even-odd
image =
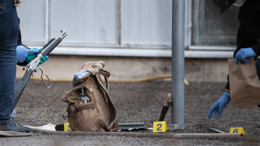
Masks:
[[[260,1],[247,0],[241,6],[238,13],[239,28],[237,35],[236,53],[242,48],[251,47],[256,53],[256,58],[260,55]],[[260,75],[260,63],[256,64],[258,76]],[[230,90],[229,77],[225,89]]]

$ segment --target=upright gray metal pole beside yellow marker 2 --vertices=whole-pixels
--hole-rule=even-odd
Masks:
[[[184,128],[184,27],[185,0],[172,7],[172,122],[169,131]]]

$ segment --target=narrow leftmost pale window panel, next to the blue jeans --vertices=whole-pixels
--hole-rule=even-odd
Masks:
[[[25,0],[17,7],[22,42],[45,42],[45,1]]]

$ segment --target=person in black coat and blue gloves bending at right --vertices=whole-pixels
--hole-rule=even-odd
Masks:
[[[256,58],[260,55],[260,1],[255,0],[212,0],[220,8],[219,14],[224,13],[233,4],[241,6],[238,13],[239,28],[237,34],[237,48],[234,52],[235,64],[238,60],[246,64],[248,57]],[[256,70],[260,78],[260,62],[256,63]],[[208,118],[215,112],[215,119],[221,116],[223,108],[231,101],[229,76],[228,83],[222,97],[209,109]],[[260,106],[259,106],[260,107]]]

